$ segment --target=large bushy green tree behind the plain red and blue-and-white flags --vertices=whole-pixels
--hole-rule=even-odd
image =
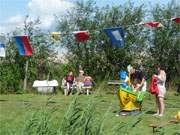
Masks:
[[[120,69],[132,63],[132,58],[136,57],[134,50],[141,50],[145,46],[144,36],[137,36],[142,28],[132,25],[142,21],[144,15],[143,6],[135,7],[130,2],[123,6],[102,8],[91,0],[77,2],[74,10],[61,19],[57,28],[65,33],[61,41],[68,50],[69,62],[74,68],[82,65],[93,76],[114,77]],[[128,25],[132,26],[124,27],[126,43],[123,48],[113,48],[101,31],[108,27]],[[90,40],[77,43],[72,35],[75,30],[89,30]]]

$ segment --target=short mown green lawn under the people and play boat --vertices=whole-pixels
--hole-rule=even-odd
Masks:
[[[67,110],[75,97],[81,108],[86,108],[89,103],[93,104],[93,117],[96,118],[93,125],[96,127],[96,124],[101,121],[101,134],[104,135],[151,135],[153,130],[149,127],[150,124],[167,123],[180,111],[180,97],[170,91],[167,92],[165,116],[162,118],[152,116],[155,110],[155,99],[149,94],[146,94],[143,109],[139,115],[119,117],[115,116],[119,111],[118,98],[108,92],[100,91],[89,96],[70,95],[68,97],[60,92],[56,95],[0,95],[0,135],[24,134],[23,131],[27,128],[26,125],[33,114],[43,111],[48,112],[49,128],[58,130],[64,117],[68,115]],[[73,135],[73,133],[70,134]],[[167,125],[154,134],[179,135],[180,123]]]

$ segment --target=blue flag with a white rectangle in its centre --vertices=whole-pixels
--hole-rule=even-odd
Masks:
[[[104,32],[109,36],[113,46],[124,46],[124,30],[121,27],[107,28],[104,29]]]

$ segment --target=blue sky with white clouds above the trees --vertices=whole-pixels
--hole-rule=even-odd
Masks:
[[[32,19],[40,17],[42,28],[50,28],[54,23],[53,14],[65,13],[73,6],[75,0],[0,0],[0,33],[6,33],[15,27],[22,25],[25,15],[30,15]],[[119,5],[127,0],[96,0],[98,6]],[[135,4],[146,3],[153,6],[157,3],[167,4],[171,0],[132,0]],[[176,0],[178,1],[178,0]],[[153,2],[153,4],[150,4]]]

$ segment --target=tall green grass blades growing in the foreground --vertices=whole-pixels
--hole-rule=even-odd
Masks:
[[[105,134],[106,117],[112,108],[110,105],[105,114],[99,116],[100,114],[95,111],[96,104],[97,101],[94,100],[93,96],[83,103],[75,96],[56,128],[52,126],[52,116],[53,112],[58,110],[52,109],[50,111],[41,108],[28,118],[21,133],[22,135],[103,135]],[[121,122],[115,125],[111,133],[114,135],[130,134],[131,128],[136,127],[141,122],[142,115],[134,117],[129,123]]]

